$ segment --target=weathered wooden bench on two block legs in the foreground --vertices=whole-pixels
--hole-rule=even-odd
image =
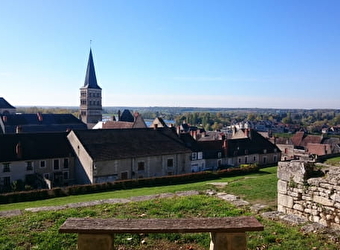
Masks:
[[[68,218],[60,233],[77,233],[79,250],[112,250],[118,233],[204,233],[211,237],[210,250],[247,249],[246,232],[262,231],[254,217],[190,219]]]

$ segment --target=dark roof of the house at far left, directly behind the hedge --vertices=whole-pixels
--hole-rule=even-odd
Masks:
[[[67,133],[0,135],[0,162],[63,158],[73,154]],[[17,154],[20,143],[22,155]]]

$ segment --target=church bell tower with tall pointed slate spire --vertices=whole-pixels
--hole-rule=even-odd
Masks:
[[[97,83],[91,49],[84,86],[80,88],[80,117],[88,128],[102,120],[102,89]]]

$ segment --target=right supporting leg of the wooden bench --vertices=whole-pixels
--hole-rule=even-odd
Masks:
[[[246,233],[211,233],[210,250],[246,250]]]

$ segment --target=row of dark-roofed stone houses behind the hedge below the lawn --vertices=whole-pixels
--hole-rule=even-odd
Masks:
[[[0,187],[33,188],[178,175],[241,164],[275,164],[278,147],[255,130],[197,141],[174,127],[0,135]]]

